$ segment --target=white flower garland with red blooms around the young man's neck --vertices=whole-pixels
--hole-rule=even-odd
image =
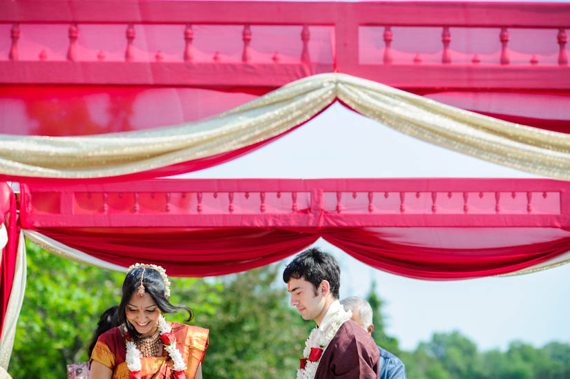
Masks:
[[[352,318],[352,311],[345,311],[338,300],[330,305],[321,326],[314,328],[305,341],[303,358],[300,358],[301,365],[297,370],[297,379],[314,379],[323,351],[342,324],[350,318]]]

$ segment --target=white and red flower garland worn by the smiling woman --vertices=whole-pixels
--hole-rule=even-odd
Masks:
[[[172,362],[174,362],[174,377],[176,379],[186,379],[184,370],[187,369],[186,363],[182,359],[182,354],[176,349],[176,338],[171,334],[172,327],[167,324],[162,315],[158,316],[158,333],[160,340],[164,344],[164,350],[168,351]],[[135,342],[131,341],[129,336],[125,340],[126,343],[126,367],[129,368],[130,379],[140,379],[140,370],[142,369],[142,353],[137,348]]]

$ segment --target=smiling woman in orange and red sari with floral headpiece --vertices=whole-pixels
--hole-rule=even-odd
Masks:
[[[160,266],[135,264],[123,282],[117,324],[97,338],[91,353],[91,379],[201,379],[208,329],[164,320],[184,310],[167,299],[170,281]]]

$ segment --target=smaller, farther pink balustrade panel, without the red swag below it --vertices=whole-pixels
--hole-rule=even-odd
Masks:
[[[158,179],[22,184],[26,227],[569,226],[550,179]],[[134,189],[136,188],[136,189]]]

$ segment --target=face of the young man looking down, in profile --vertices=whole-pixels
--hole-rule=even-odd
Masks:
[[[291,293],[291,305],[301,313],[303,320],[315,320],[323,313],[325,298],[319,295],[311,282],[291,278],[287,290]]]

